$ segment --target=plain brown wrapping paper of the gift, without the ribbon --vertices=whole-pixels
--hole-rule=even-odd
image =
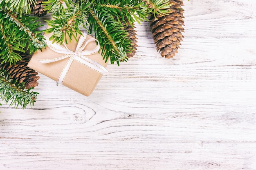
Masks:
[[[45,36],[49,38],[51,34],[45,34]],[[79,40],[80,36],[80,34],[77,35],[77,40]],[[85,42],[90,38],[93,37],[91,35],[87,35]],[[70,49],[71,51],[75,51],[76,46],[77,42],[75,40],[72,39],[71,42],[69,42],[68,40],[68,49]],[[85,46],[84,50],[92,50],[95,49],[95,47],[96,42],[90,42],[87,46]],[[65,64],[67,63],[68,58],[47,64],[43,64],[38,60],[53,59],[56,57],[61,57],[63,55],[64,54],[52,51],[51,49],[49,49],[49,47],[46,47],[46,49],[43,49],[42,51],[37,50],[29,61],[28,67],[34,69],[35,71],[38,71],[39,73],[42,73],[43,75],[46,75],[47,77],[57,82],[58,77],[61,74],[61,71],[63,70]],[[105,63],[105,60],[102,60],[102,56],[100,55],[100,53],[86,55],[86,57],[94,60],[95,62],[98,62],[104,67],[108,65],[108,62]],[[101,73],[74,60],[63,81],[63,85],[85,96],[89,96],[101,79],[101,76]]]

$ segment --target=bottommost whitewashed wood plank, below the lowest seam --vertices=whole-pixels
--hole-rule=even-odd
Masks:
[[[255,143],[44,141],[6,144],[1,169],[255,170]]]

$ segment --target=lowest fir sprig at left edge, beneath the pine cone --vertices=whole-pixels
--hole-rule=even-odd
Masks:
[[[24,86],[21,86],[24,87]],[[20,86],[15,86],[4,78],[4,73],[0,73],[0,98],[4,100],[5,103],[11,102],[10,106],[22,106],[24,109],[28,104],[34,106],[36,102],[37,94],[36,92],[30,92],[29,90],[24,90]]]

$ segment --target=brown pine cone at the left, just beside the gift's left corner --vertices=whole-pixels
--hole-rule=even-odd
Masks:
[[[28,62],[31,59],[31,55],[22,53],[20,56],[22,57],[21,61],[16,62],[15,65],[10,65],[9,62],[4,63],[2,64],[1,69],[9,74],[9,77],[13,79],[13,83],[16,85],[24,82],[26,89],[38,86],[38,73],[27,67]]]

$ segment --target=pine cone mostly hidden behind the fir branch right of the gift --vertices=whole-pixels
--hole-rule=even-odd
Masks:
[[[116,18],[115,16],[114,16],[114,18]],[[116,19],[117,20],[117,19]],[[136,43],[137,43],[137,39],[138,38],[136,38],[136,30],[135,30],[135,26],[134,26],[134,24],[132,24],[132,26],[131,26],[131,24],[130,24],[130,22],[128,21],[128,19],[126,18],[126,17],[124,17],[124,21],[122,20],[122,18],[120,17],[119,18],[119,20],[121,21],[121,24],[124,26],[124,30],[126,30],[127,31],[127,33],[128,33],[128,38],[130,39],[130,40],[132,40],[132,42],[131,42],[131,46],[132,46],[132,52],[131,53],[126,53],[126,55],[127,55],[127,57],[128,58],[130,58],[130,57],[132,57],[133,55],[135,55],[135,53],[136,53],[136,50],[137,50],[137,48],[136,48],[136,46],[138,46]]]

